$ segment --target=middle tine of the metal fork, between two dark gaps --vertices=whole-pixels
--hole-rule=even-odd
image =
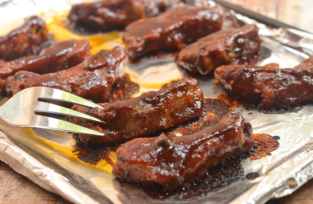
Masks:
[[[38,101],[38,104],[36,105],[36,109],[34,110],[35,114],[39,114],[40,113],[53,113],[53,114],[60,114],[60,115],[65,115],[65,116],[72,116],[72,117],[77,117],[77,118],[82,118],[82,119],[86,119],[86,120],[91,120],[91,121],[95,121],[95,122],[99,122],[99,123],[103,123],[102,120],[95,118],[93,116],[84,114],[84,113],[80,113],[78,111],[69,109],[69,108],[65,108],[63,106],[59,106],[56,104],[50,104],[50,103],[46,103],[46,102],[41,102]]]

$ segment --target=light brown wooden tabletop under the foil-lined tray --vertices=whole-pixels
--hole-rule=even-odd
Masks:
[[[229,2],[313,32],[312,0],[236,0]],[[278,200],[271,200],[267,204],[313,203],[312,192],[313,180],[310,180],[293,194]],[[59,195],[44,190],[0,161],[0,203],[66,204],[69,202]]]

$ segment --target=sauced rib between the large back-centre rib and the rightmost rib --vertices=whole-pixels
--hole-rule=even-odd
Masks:
[[[182,49],[176,63],[202,75],[221,65],[252,64],[260,50],[258,31],[255,25],[245,25],[212,33]]]

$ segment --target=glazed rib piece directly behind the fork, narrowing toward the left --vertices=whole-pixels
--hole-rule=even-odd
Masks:
[[[6,91],[13,95],[33,86],[61,89],[95,102],[110,98],[112,86],[124,75],[125,53],[121,47],[101,50],[77,66],[58,72],[38,75],[19,71],[8,77]]]

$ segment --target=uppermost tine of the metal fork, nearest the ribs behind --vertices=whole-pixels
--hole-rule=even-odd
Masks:
[[[50,87],[37,87],[38,92],[40,93],[40,96],[38,97],[38,100],[56,100],[56,101],[61,101],[61,102],[67,102],[71,104],[79,104],[83,106],[87,106],[90,108],[98,107],[103,109],[102,106],[91,102],[89,100],[86,100],[80,96],[68,93],[63,90],[59,89],[54,89]]]

